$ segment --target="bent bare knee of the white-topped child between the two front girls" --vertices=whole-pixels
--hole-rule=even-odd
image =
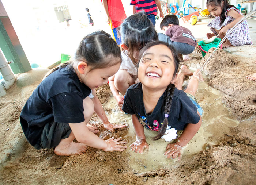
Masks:
[[[125,95],[126,89],[132,84],[135,84],[135,81],[126,70],[120,69],[117,71],[115,74],[114,85],[122,95]]]

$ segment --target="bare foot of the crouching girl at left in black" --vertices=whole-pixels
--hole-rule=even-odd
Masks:
[[[54,153],[56,155],[78,155],[78,154],[83,154],[86,152],[87,146],[86,144],[83,143],[67,143],[67,142],[62,142],[60,141],[60,144],[56,146]]]

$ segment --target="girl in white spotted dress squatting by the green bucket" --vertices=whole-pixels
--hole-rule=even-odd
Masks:
[[[207,25],[211,27],[211,31],[213,32],[206,34],[208,39],[215,35],[223,39],[230,29],[244,17],[236,7],[229,4],[228,0],[207,0],[206,6],[211,13],[211,17],[215,17]],[[246,20],[234,28],[227,36],[222,47],[242,46],[245,44],[252,45],[249,26]]]

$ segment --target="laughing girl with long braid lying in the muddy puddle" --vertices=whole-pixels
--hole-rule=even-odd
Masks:
[[[180,160],[182,148],[199,130],[199,111],[202,113],[202,110],[194,97],[199,83],[196,77],[199,69],[190,78],[187,89],[182,91],[172,83],[177,76],[178,65],[177,51],[166,42],[149,42],[140,51],[140,82],[127,89],[122,108],[131,114],[136,133],[136,141],[130,145],[132,151],[143,153],[143,149],[149,147],[143,127],[158,131],[153,140],[160,139],[169,129],[176,132],[183,130],[175,143],[167,145],[165,152],[167,158],[178,156]]]

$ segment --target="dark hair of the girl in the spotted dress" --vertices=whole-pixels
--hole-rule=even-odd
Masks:
[[[226,16],[225,16],[225,12],[227,11],[228,8],[231,8],[233,7],[233,5],[230,5],[229,4],[229,1],[228,0],[207,0],[206,2],[206,6],[208,7],[208,5],[211,5],[211,6],[220,6],[222,8],[222,12],[221,12],[221,15],[220,15],[220,20],[221,22],[219,23],[219,25],[221,26],[222,23],[225,21],[226,19]],[[210,14],[210,19],[214,17]]]

